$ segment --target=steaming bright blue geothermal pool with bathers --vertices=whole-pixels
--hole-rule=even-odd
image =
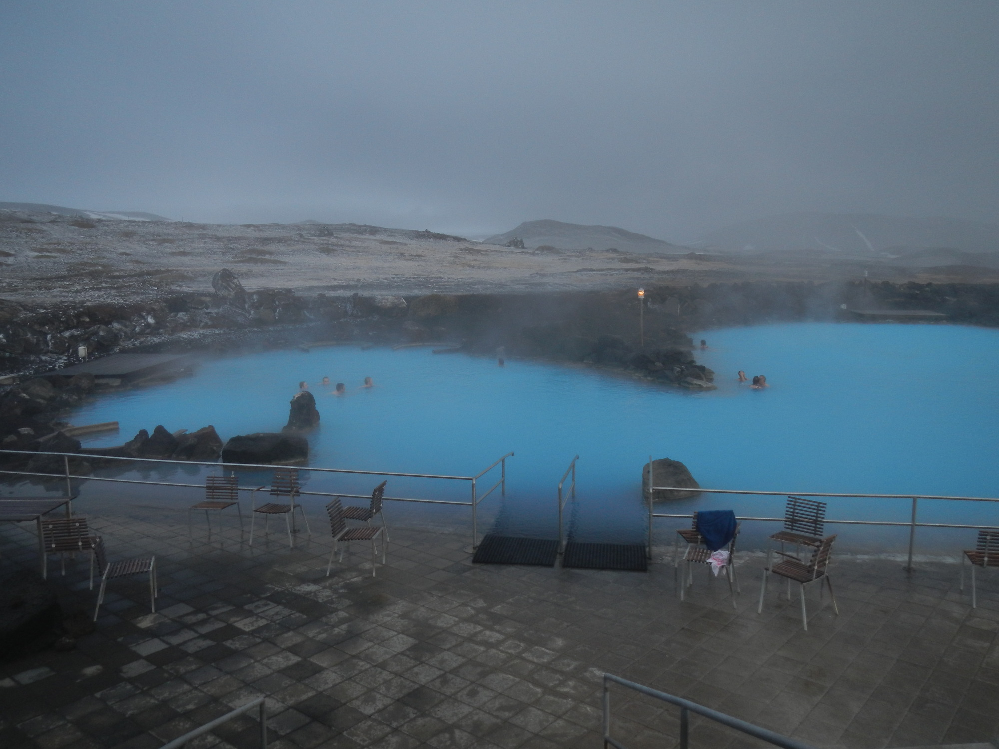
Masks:
[[[305,379],[322,424],[309,436],[314,466],[473,475],[513,451],[507,495],[482,505],[480,529],[553,537],[555,487],[579,455],[577,498],[566,508],[578,540],[641,541],[640,482],[649,455],[681,460],[701,486],[777,491],[999,495],[999,331],[930,325],[786,324],[697,334],[698,362],[718,389],[688,392],[586,368],[434,355],[430,349],[356,347],[268,351],[204,359],[170,384],[100,397],[74,423],[118,420],[115,444],[158,424],[214,424],[223,439],[278,431]],[[751,390],[738,370],[771,385]],[[345,382],[329,394],[323,376]],[[375,387],[360,387],[372,376]],[[149,478],[201,480],[195,467],[145,471]],[[493,474],[491,474],[493,475]],[[310,490],[370,491],[371,477],[305,474]],[[259,483],[266,482],[258,476]],[[247,476],[241,483],[254,483]],[[486,479],[484,479],[486,480]],[[492,482],[486,483],[492,485]],[[168,489],[90,482],[81,501],[94,514],[114,502],[177,509]],[[393,478],[388,493],[468,499],[468,484]],[[323,501],[307,499],[314,532],[326,531]],[[389,503],[390,522],[469,527],[468,508]],[[783,498],[702,495],[658,502],[658,511],[734,508],[779,516]],[[908,520],[907,500],[830,499],[831,518]],[[920,520],[999,525],[999,505],[920,502]],[[658,542],[671,543],[658,520]],[[661,523],[659,525],[658,523]],[[773,528],[747,523],[743,547]],[[897,552],[906,529],[827,526],[840,548]],[[958,549],[970,530],[918,531],[917,549]]]

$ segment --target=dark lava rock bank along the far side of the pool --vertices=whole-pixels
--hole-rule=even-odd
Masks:
[[[0,378],[0,443],[7,449],[31,450],[44,450],[52,440],[79,444],[56,436],[66,425],[59,417],[99,392],[101,384],[93,375],[37,376],[79,362],[79,347],[87,347],[94,357],[317,343],[441,342],[447,344],[442,351],[575,363],[663,385],[711,389],[713,373],[696,363],[693,342],[683,331],[840,320],[847,315],[844,308],[863,305],[929,310],[947,315],[950,322],[999,326],[999,286],[984,285],[794,282],[653,287],[646,290],[643,340],[633,290],[303,297],[289,290],[249,292],[226,269],[215,275],[212,285],[211,294],[127,305],[33,309],[0,300],[0,375],[5,375]],[[146,383],[155,381],[153,377]],[[139,384],[143,382],[132,386]],[[156,436],[154,431],[146,439],[155,443]],[[133,451],[139,456],[147,450]]]

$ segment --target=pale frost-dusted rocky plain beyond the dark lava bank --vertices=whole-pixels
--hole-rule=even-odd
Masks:
[[[208,291],[223,267],[248,289],[421,294],[626,286],[704,265],[683,257],[519,250],[354,224],[95,221],[9,211],[0,211],[0,262],[0,295],[34,303]]]

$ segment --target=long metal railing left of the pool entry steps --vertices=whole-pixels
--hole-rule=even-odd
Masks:
[[[176,486],[179,488],[196,488],[204,489],[204,483],[179,483],[174,481],[144,481],[137,478],[109,478],[106,476],[83,476],[75,475],[70,472],[70,458],[80,458],[86,460],[87,458],[92,458],[95,460],[120,460],[126,463],[155,463],[157,465],[207,465],[214,468],[229,468],[231,470],[237,469],[260,469],[260,470],[274,470],[278,467],[285,467],[280,465],[267,465],[263,463],[226,463],[219,461],[209,461],[209,460],[166,460],[160,458],[150,458],[150,457],[118,457],[113,455],[92,455],[86,452],[35,452],[32,450],[5,450],[0,449],[0,455],[3,454],[18,454],[18,455],[52,455],[63,458],[63,472],[62,473],[43,473],[39,471],[29,471],[29,470],[11,470],[9,468],[0,467],[0,474],[10,474],[10,475],[21,475],[21,476],[35,476],[40,478],[65,478],[66,480],[66,496],[73,495],[73,480],[84,480],[84,481],[108,481],[111,483],[136,483],[143,485],[152,486]],[[384,496],[385,500],[391,500],[394,502],[416,502],[423,504],[448,504],[452,506],[459,507],[471,507],[472,508],[472,545],[473,547],[478,546],[478,517],[477,508],[479,503],[489,496],[497,487],[501,487],[502,494],[506,494],[506,458],[512,457],[512,452],[507,452],[505,455],[500,457],[499,460],[494,462],[488,468],[480,471],[474,476],[452,476],[443,475],[435,473],[402,473],[399,471],[388,471],[388,470],[356,470],[352,468],[319,468],[312,466],[303,466],[302,470],[316,471],[319,473],[346,473],[350,475],[369,475],[369,476],[395,476],[400,478],[428,478],[428,479],[442,479],[449,481],[469,481],[472,487],[472,500],[468,502],[455,501],[452,499],[423,499],[418,497],[408,497],[408,496]],[[498,480],[486,493],[478,493],[478,481],[484,475],[489,473],[498,465],[502,466],[500,480]],[[259,489],[258,485],[254,486],[240,486],[238,487],[240,491],[254,491]],[[371,494],[349,494],[342,491],[299,491],[300,496],[341,496],[349,497],[351,499],[368,499]]]

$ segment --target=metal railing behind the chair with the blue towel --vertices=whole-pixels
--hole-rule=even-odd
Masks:
[[[651,472],[649,472],[649,484],[652,484]],[[689,518],[691,514],[655,512],[653,508],[653,497],[656,491],[690,491],[689,486],[653,486],[645,487],[648,495],[648,555],[652,554],[652,521],[656,517],[683,517]],[[999,525],[969,525],[966,523],[951,522],[917,522],[916,513],[920,499],[943,499],[947,501],[961,502],[999,502],[999,498],[991,496],[945,496],[937,494],[843,494],[837,492],[821,491],[756,491],[749,489],[694,489],[705,494],[745,494],[751,496],[817,496],[830,499],[908,499],[912,502],[908,521],[897,520],[840,520],[825,518],[828,524],[840,525],[889,525],[895,527],[906,527],[909,529],[909,550],[905,569],[912,569],[912,554],[916,541],[916,528],[967,528],[971,530],[999,530]],[[783,517],[736,517],[740,521],[759,522],[783,522]]]

